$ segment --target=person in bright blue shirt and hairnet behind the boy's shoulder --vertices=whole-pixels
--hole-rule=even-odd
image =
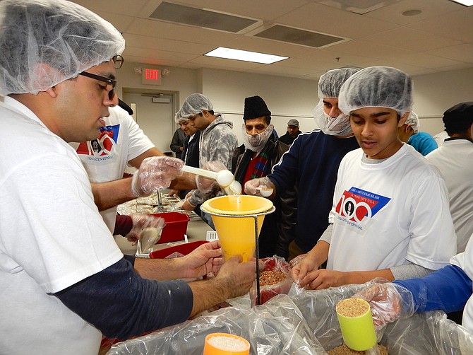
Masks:
[[[419,131],[420,122],[416,112],[411,112],[411,115],[407,117],[405,124],[399,127],[398,134],[401,141],[410,144],[416,151],[426,156],[434,149],[437,149],[438,145],[427,132]]]

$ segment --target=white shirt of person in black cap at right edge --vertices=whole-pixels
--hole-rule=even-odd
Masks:
[[[473,143],[468,139],[444,141],[426,159],[436,165],[445,179],[457,251],[462,252],[473,234]]]

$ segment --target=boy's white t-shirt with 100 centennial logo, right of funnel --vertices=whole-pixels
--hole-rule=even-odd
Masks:
[[[457,244],[438,170],[408,144],[381,163],[362,162],[363,154],[351,151],[340,163],[327,269],[447,265]]]

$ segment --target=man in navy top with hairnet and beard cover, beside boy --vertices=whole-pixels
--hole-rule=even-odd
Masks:
[[[297,208],[293,206],[292,214],[287,211],[282,217],[292,221],[296,230],[289,244],[288,260],[309,252],[328,227],[338,165],[346,153],[359,148],[348,116],[338,108],[340,87],[356,72],[357,69],[351,68],[337,69],[321,76],[319,102],[313,113],[321,129],[300,134],[273,167],[273,173],[245,184],[246,194],[261,196],[257,187],[272,188],[272,197],[280,197],[291,187],[297,187]]]

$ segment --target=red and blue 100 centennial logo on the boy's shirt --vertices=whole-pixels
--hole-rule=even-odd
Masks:
[[[350,190],[343,192],[335,211],[339,215],[338,219],[340,221],[345,221],[350,226],[363,229],[363,225],[389,201],[389,197],[352,187]]]

